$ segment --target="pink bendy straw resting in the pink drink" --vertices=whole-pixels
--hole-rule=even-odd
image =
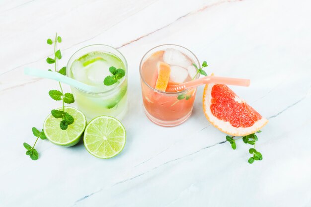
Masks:
[[[185,83],[181,83],[178,85],[170,85],[166,91],[183,91],[188,88],[197,87],[199,85],[204,85],[207,83],[215,83],[215,84],[225,84],[225,85],[239,85],[239,86],[249,86],[249,79],[241,79],[241,78],[231,78],[231,77],[216,77],[216,76],[206,76],[203,78],[191,80]]]

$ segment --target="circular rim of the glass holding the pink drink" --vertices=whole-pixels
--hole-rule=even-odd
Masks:
[[[143,60],[144,60],[144,58],[147,56],[147,54],[149,54],[150,51],[152,51],[152,50],[154,50],[154,49],[156,49],[156,48],[158,48],[158,47],[161,47],[161,46],[170,46],[170,45],[171,45],[171,46],[177,46],[177,47],[180,47],[180,48],[183,48],[183,49],[189,51],[189,52],[193,55],[193,57],[195,58],[195,60],[197,61],[197,63],[198,63],[199,66],[200,66],[200,62],[199,62],[198,58],[197,58],[196,55],[194,55],[194,53],[191,52],[189,49],[187,49],[187,48],[185,48],[185,47],[183,47],[183,46],[180,46],[180,45],[176,45],[176,44],[162,44],[162,45],[158,45],[158,46],[156,46],[156,47],[151,48],[150,50],[148,50],[148,51],[145,53],[145,55],[143,56],[143,58],[142,58],[142,60],[141,60],[141,62],[140,62],[140,64],[139,64],[139,74],[140,74],[140,77],[141,77],[142,81],[143,81],[149,88],[153,89],[154,91],[156,91],[156,92],[158,92],[158,93],[162,93],[162,94],[167,94],[167,95],[177,95],[177,94],[182,94],[182,93],[184,93],[184,92],[187,92],[187,91],[191,90],[192,88],[188,88],[188,89],[186,89],[186,90],[182,90],[182,91],[178,91],[178,92],[166,92],[166,91],[161,91],[161,90],[157,90],[156,88],[151,87],[151,86],[145,81],[145,79],[142,77],[142,65],[143,65]],[[200,75],[198,75],[198,74],[197,74],[196,76],[197,76],[197,77],[196,77],[195,79],[198,79],[198,78],[200,77]]]

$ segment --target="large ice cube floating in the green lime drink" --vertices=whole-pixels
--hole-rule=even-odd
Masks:
[[[86,67],[87,78],[92,85],[102,86],[106,76],[111,75],[106,61],[96,61]]]

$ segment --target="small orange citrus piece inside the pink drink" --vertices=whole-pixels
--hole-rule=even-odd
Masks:
[[[165,91],[169,81],[170,67],[166,63],[158,62],[157,71],[156,89]]]

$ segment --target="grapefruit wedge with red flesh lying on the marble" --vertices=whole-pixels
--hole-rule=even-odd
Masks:
[[[214,127],[232,136],[255,133],[268,123],[227,85],[205,85],[203,111]]]

